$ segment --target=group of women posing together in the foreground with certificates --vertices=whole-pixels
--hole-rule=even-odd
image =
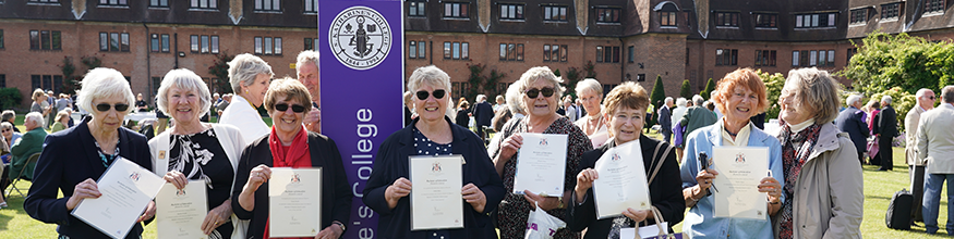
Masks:
[[[25,202],[27,213],[45,223],[59,224],[61,238],[105,237],[70,215],[80,201],[98,198],[95,178],[118,158],[150,168],[173,187],[189,181],[207,188],[208,214],[200,226],[210,238],[268,238],[268,180],[271,167],[323,167],[322,222],[316,238],[339,238],[349,222],[351,191],[341,155],[330,138],[307,131],[302,125],[311,106],[307,89],[298,80],[271,80],[267,63],[250,54],[229,63],[236,101],[220,124],[202,123],[210,104],[207,86],[189,70],[170,71],[158,92],[158,108],[174,124],[153,140],[122,128],[134,97],[121,73],[95,68],[82,81],[79,104],[90,117],[76,127],[52,134],[37,164],[36,177]],[[567,222],[554,238],[619,238],[623,227],[684,221],[683,231],[693,238],[859,238],[861,221],[861,172],[850,139],[838,134],[832,120],[837,114],[834,80],[814,68],[789,73],[782,97],[782,131],[770,136],[753,127],[749,117],[768,105],[765,86],[749,68],[720,80],[713,101],[724,113],[716,124],[687,138],[684,163],[668,142],[642,135],[647,91],[635,83],[621,84],[605,100],[599,81],[587,79],[577,87],[588,115],[577,123],[556,114],[565,93],[563,80],[547,67],[523,73],[508,90],[508,99],[524,114],[498,130],[485,148],[483,141],[449,117],[454,108],[450,77],[435,66],[420,67],[408,79],[414,113],[403,129],[378,147],[373,173],[363,191],[363,202],[381,217],[375,230],[381,238],[521,238],[531,210],[540,209]],[[512,102],[512,101],[511,101]],[[264,105],[273,126],[262,122],[256,108]],[[240,130],[241,128],[241,130]],[[561,194],[514,192],[522,134],[567,135],[566,166]],[[611,148],[639,143],[647,171],[660,168],[649,181],[649,210],[620,212],[596,219],[592,185],[600,178],[593,169]],[[595,146],[595,148],[594,148]],[[766,147],[771,175],[753,185],[765,193],[764,219],[713,217],[714,200],[707,197],[718,172],[704,169],[697,160],[715,147]],[[52,150],[56,149],[56,150]],[[662,151],[659,149],[663,149]],[[158,156],[165,153],[164,156]],[[161,151],[161,152],[160,152]],[[662,152],[662,153],[660,153]],[[463,228],[411,230],[409,156],[461,155]],[[837,172],[837,173],[834,173]],[[649,172],[647,175],[650,175]],[[62,191],[62,197],[58,192]],[[689,207],[688,214],[685,214]],[[150,203],[140,221],[155,215]],[[662,218],[657,218],[662,217]],[[247,222],[247,226],[242,222]],[[499,235],[495,231],[499,229]],[[138,238],[137,223],[126,238]]]

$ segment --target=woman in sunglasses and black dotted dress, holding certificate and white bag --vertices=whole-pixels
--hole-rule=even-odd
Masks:
[[[502,136],[491,142],[491,158],[497,174],[504,179],[507,196],[500,202],[497,214],[500,238],[520,238],[527,229],[527,218],[530,210],[536,203],[553,216],[564,222],[567,218],[566,206],[572,192],[576,175],[580,173],[580,160],[583,152],[593,150],[590,138],[579,127],[575,126],[566,117],[556,113],[557,99],[563,96],[564,89],[559,86],[563,79],[557,78],[546,66],[532,67],[514,83],[516,90],[507,93],[520,93],[520,104],[527,116],[507,122],[500,133]],[[511,98],[511,96],[507,96]],[[567,137],[567,155],[564,177],[564,193],[557,197],[541,197],[530,191],[524,194],[514,193],[514,178],[517,176],[517,150],[523,144],[522,133],[559,134]],[[580,234],[567,229],[560,229],[554,238],[579,238]]]

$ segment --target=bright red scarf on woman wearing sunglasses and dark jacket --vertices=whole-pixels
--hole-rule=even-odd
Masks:
[[[275,134],[275,127],[271,127],[271,135],[268,136],[268,148],[271,149],[271,165],[273,167],[311,167],[312,153],[309,151],[307,133],[302,126],[294,139],[291,140],[291,146],[282,146],[281,140]],[[271,219],[265,223],[265,235],[262,238],[268,238],[268,225]],[[305,239],[305,238],[302,238]]]

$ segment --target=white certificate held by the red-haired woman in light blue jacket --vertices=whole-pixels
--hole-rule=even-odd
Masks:
[[[759,181],[768,176],[769,148],[715,147],[712,169],[718,176],[712,180],[715,197],[714,217],[768,219],[766,196],[759,192]],[[717,191],[716,191],[717,190]]]

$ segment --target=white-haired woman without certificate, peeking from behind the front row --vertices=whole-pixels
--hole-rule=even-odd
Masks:
[[[583,109],[587,109],[587,116],[573,124],[583,129],[583,133],[590,137],[593,147],[599,148],[609,139],[601,105],[603,85],[594,78],[583,79],[577,84],[577,96],[583,102]]]

